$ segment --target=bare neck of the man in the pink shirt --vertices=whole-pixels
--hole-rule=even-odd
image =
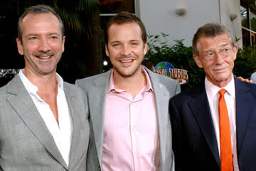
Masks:
[[[132,97],[136,96],[138,92],[146,85],[146,75],[139,68],[134,75],[129,77],[123,77],[118,72],[113,72],[114,87],[117,89],[124,89],[132,94]]]

